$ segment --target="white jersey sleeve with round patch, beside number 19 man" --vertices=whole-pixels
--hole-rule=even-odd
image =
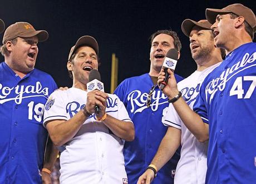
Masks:
[[[45,104],[45,112],[43,115],[43,126],[46,126],[51,120],[67,120],[67,111],[63,95],[66,91],[54,91]]]

